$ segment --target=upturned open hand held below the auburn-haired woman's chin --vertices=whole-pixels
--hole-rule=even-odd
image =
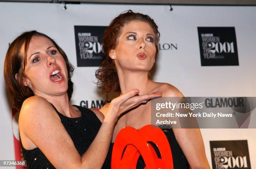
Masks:
[[[111,116],[113,118],[116,118],[117,120],[120,114],[122,114],[125,111],[128,111],[133,107],[138,106],[139,104],[143,103],[143,101],[147,101],[151,98],[162,96],[160,91],[150,93],[150,94],[144,94],[141,96],[138,94],[139,94],[139,90],[133,89],[125,94],[121,94],[117,98],[114,98],[110,102],[106,116]]]

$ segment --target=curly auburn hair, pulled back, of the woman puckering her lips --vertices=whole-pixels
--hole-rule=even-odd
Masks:
[[[155,34],[156,55],[159,51],[160,33],[158,31],[158,26],[148,15],[134,13],[132,10],[128,10],[113,19],[110,25],[105,29],[102,38],[102,51],[104,53],[103,61],[100,68],[95,72],[95,76],[98,79],[96,84],[102,88],[102,93],[106,94],[107,99],[108,93],[112,91],[120,93],[117,70],[114,61],[109,57],[109,53],[110,50],[115,49],[118,45],[118,37],[121,34],[122,28],[132,20],[140,20],[151,26]]]

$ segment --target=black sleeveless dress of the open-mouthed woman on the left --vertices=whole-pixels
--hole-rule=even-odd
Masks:
[[[80,156],[82,156],[82,154],[84,154],[84,152],[91,145],[92,141],[95,139],[95,136],[97,135],[102,123],[95,113],[90,109],[81,106],[76,107],[81,112],[81,117],[69,118],[59,113],[55,107],[54,109],[59,115],[61,123],[67,130],[69,136],[72,138],[74,146],[76,147]],[[35,148],[32,150],[26,150],[22,144],[21,149],[23,151],[24,159],[27,162],[28,169],[54,169],[54,166],[40,149]],[[105,161],[102,168],[108,169],[108,164],[110,164],[110,161]]]

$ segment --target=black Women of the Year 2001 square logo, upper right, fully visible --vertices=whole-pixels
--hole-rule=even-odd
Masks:
[[[202,66],[238,66],[234,27],[197,27]]]

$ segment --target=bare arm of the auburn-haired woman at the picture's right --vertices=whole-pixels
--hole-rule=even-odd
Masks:
[[[184,96],[177,88],[168,85],[165,86],[163,97]],[[173,129],[173,132],[191,169],[210,169],[200,129]]]

